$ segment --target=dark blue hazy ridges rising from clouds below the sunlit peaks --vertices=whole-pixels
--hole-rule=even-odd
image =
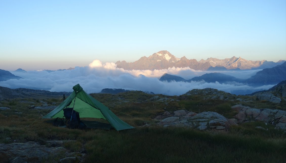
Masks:
[[[168,82],[171,81],[191,82],[191,81],[204,80],[207,83],[214,83],[216,81],[218,81],[219,83],[227,83],[234,81],[252,86],[272,85],[272,84],[277,84],[283,80],[286,80],[286,62],[272,68],[266,68],[263,69],[262,71],[258,71],[255,75],[251,76],[248,79],[240,79],[233,77],[231,75],[215,72],[215,73],[206,73],[204,75],[193,77],[192,79],[188,80],[176,75],[170,75],[165,73],[159,80]]]

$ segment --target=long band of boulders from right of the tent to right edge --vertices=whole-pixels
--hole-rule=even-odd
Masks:
[[[231,119],[216,112],[197,114],[187,110],[165,111],[154,119],[160,121],[158,123],[160,126],[189,127],[198,130],[227,130],[231,125],[250,121],[261,121],[286,130],[286,112],[283,110],[254,109],[243,105],[235,105],[231,108],[238,112]]]

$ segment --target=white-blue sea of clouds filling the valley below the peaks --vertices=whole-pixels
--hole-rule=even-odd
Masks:
[[[260,70],[248,71],[216,71],[247,79]],[[214,71],[211,71],[214,72]],[[274,85],[252,87],[241,83],[221,84],[219,82],[206,83],[204,81],[162,82],[160,77],[164,73],[177,75],[184,79],[201,76],[209,71],[196,71],[189,67],[168,68],[161,70],[125,70],[118,68],[115,63],[103,64],[94,60],[86,67],[75,67],[73,70],[47,72],[44,70],[28,72],[11,72],[23,79],[0,81],[0,86],[8,88],[32,88],[49,90],[52,92],[71,92],[72,87],[80,84],[88,94],[101,92],[104,88],[122,88],[126,90],[150,91],[155,94],[182,95],[192,89],[215,88],[231,94],[250,94],[255,91],[268,90]]]

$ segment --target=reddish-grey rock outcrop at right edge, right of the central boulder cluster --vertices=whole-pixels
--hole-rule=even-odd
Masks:
[[[231,108],[239,112],[235,115],[239,123],[262,121],[286,130],[286,112],[283,110],[254,109],[243,105],[235,105]]]

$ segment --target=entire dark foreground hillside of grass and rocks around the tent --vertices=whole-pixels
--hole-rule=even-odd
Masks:
[[[277,129],[286,116],[281,110],[285,108],[285,100],[276,104],[212,88],[190,90],[181,96],[141,91],[90,96],[136,128],[115,132],[56,127],[40,118],[51,110],[38,106],[59,105],[58,99],[39,95],[42,100],[1,100],[1,160],[142,163],[286,160],[285,132],[279,126]],[[29,108],[31,105],[35,109]],[[269,116],[274,123],[268,122]]]

